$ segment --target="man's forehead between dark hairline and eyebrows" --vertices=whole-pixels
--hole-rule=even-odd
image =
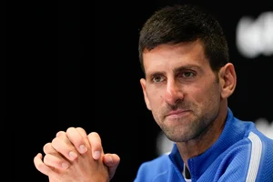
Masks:
[[[146,74],[174,70],[181,66],[210,68],[203,44],[198,40],[177,45],[158,45],[150,51],[145,50],[143,64]]]

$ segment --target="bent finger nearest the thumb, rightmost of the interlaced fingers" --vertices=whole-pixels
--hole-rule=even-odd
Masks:
[[[88,135],[88,140],[91,145],[93,158],[97,160],[101,157],[101,154],[103,153],[101,138],[96,132],[91,132]]]

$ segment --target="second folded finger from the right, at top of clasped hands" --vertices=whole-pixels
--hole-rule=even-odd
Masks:
[[[68,127],[66,130],[66,136],[69,138],[70,142],[76,147],[80,154],[85,154],[87,151],[86,140],[78,132],[76,127]]]

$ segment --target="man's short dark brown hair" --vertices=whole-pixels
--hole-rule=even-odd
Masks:
[[[204,8],[197,5],[166,6],[147,19],[139,35],[138,54],[142,70],[143,51],[157,45],[193,42],[200,39],[205,56],[217,72],[228,61],[228,46],[221,25]]]

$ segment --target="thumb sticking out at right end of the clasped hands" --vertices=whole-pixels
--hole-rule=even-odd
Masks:
[[[109,177],[112,179],[116,173],[116,168],[119,165],[120,157],[116,154],[105,154],[103,157],[103,162],[108,167]]]

